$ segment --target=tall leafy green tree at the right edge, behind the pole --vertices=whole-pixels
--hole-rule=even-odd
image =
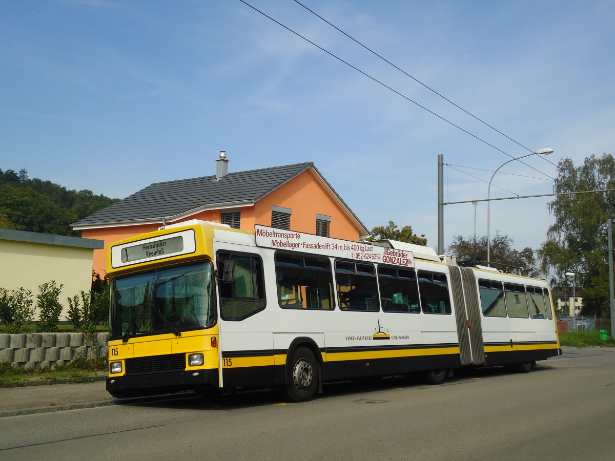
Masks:
[[[606,221],[613,217],[615,192],[568,192],[615,189],[615,159],[610,154],[592,155],[579,167],[563,159],[557,169],[553,191],[562,195],[549,202],[555,223],[538,250],[542,269],[555,274],[552,283],[558,285],[563,285],[565,272],[574,272],[583,297],[582,313],[608,317]]]

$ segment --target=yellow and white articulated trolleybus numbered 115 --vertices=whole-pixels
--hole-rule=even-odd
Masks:
[[[561,353],[547,282],[409,243],[189,221],[110,245],[108,275],[116,397],[275,387],[306,401],[327,381],[439,384]]]

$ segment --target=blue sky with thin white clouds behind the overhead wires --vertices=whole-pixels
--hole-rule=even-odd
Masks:
[[[124,198],[148,184],[314,162],[363,223],[437,245],[445,201],[485,199],[529,151],[459,111],[292,0],[0,2],[0,168]],[[552,192],[554,164],[615,154],[614,1],[302,3],[547,159],[503,167],[492,197]],[[552,163],[550,163],[552,162]],[[499,189],[502,187],[503,189]],[[512,192],[512,194],[510,193]],[[538,248],[549,199],[491,203]],[[444,240],[486,234],[486,202],[446,205]]]

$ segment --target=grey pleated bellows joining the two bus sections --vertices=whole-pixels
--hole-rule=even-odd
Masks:
[[[485,363],[480,302],[476,290],[474,271],[469,267],[448,266],[451,293],[457,321],[459,354],[462,365]]]

